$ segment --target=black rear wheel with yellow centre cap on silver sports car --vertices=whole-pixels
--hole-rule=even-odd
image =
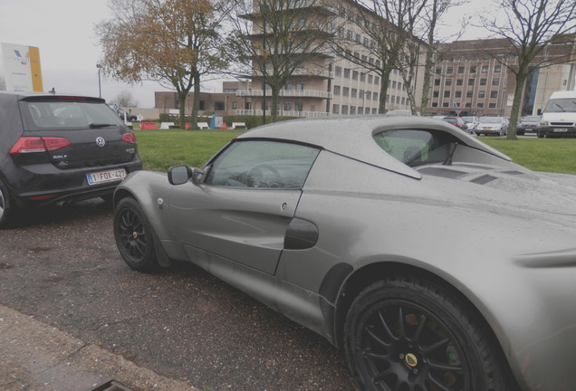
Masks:
[[[354,300],[344,348],[362,390],[504,391],[491,340],[450,291],[396,277],[371,284]]]

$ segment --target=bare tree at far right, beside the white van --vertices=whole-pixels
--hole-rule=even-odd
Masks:
[[[571,54],[576,29],[576,2],[574,0],[496,0],[495,14],[479,15],[482,24],[494,37],[507,43],[515,62],[506,62],[505,56],[496,57],[516,77],[514,102],[510,114],[509,139],[516,138],[516,122],[522,105],[526,80],[533,70],[552,63],[573,62]],[[554,55],[554,48],[569,45],[568,55]],[[551,51],[552,55],[548,55]],[[500,53],[502,54],[502,53]],[[510,58],[510,56],[508,56]]]

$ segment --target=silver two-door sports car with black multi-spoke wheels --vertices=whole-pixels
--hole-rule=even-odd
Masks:
[[[197,264],[340,347],[363,390],[576,389],[576,176],[444,121],[267,125],[114,203],[131,268]]]

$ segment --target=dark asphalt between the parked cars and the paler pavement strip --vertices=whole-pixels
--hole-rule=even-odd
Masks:
[[[18,216],[0,230],[0,303],[207,390],[358,389],[343,355],[308,329],[187,263],[132,271],[110,205]]]

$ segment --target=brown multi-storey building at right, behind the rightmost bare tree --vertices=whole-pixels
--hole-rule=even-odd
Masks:
[[[518,62],[516,56],[510,54],[508,42],[503,39],[462,41],[447,43],[444,50],[446,53],[435,68],[427,113],[508,117],[516,87],[516,78],[509,67]],[[547,48],[542,55],[568,59],[570,51],[571,63],[534,70],[526,83],[520,115],[536,114],[545,106],[552,91],[574,88],[574,46]]]

